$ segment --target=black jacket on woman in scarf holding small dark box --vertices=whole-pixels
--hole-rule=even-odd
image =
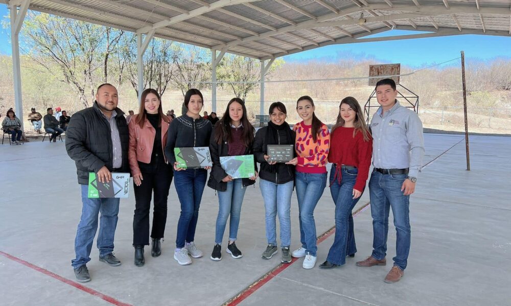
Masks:
[[[255,133],[254,144],[253,144],[253,152],[255,160],[258,163],[261,163],[261,169],[259,171],[259,177],[262,180],[269,181],[275,184],[284,184],[294,180],[294,166],[286,165],[285,163],[276,163],[273,167],[276,167],[276,171],[270,171],[270,165],[264,159],[264,155],[267,150],[267,142],[266,132],[268,130],[268,126],[262,127]],[[291,131],[292,139],[296,138],[296,133]],[[278,131],[278,136],[280,139],[286,139],[286,131],[281,130]],[[280,144],[294,144],[294,143],[280,143]]]

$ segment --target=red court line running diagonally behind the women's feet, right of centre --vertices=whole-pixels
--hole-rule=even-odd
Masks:
[[[353,217],[355,218],[360,213],[365,211],[369,208],[369,202],[367,202],[364,206],[359,208],[355,213],[353,213]],[[335,233],[335,226],[330,228],[327,232],[323,233],[319,238],[317,239],[317,244],[323,242],[328,237],[332,236],[332,234]],[[273,270],[263,275],[261,278],[259,278],[258,281],[255,281],[252,285],[250,285],[248,288],[246,288],[244,291],[242,291],[239,295],[234,297],[233,299],[230,299],[229,301],[225,302],[223,306],[235,306],[241,303],[244,299],[249,297],[252,293],[257,291],[259,288],[263,287],[266,283],[271,281],[271,279],[278,274],[282,273],[282,271],[286,270],[289,266],[291,266],[293,263],[295,263],[298,260],[298,258],[293,258],[291,260],[291,263],[289,264],[280,264],[276,266]]]

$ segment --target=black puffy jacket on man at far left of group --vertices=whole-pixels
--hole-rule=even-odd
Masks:
[[[128,164],[128,124],[124,112],[115,109],[117,127],[121,138],[123,161],[119,172],[130,172]],[[89,172],[98,172],[103,166],[112,171],[113,149],[110,124],[103,117],[97,102],[92,107],[75,113],[66,131],[67,155],[76,163],[78,184],[87,185]]]

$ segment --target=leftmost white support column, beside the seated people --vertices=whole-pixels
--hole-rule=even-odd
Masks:
[[[12,75],[14,78],[14,109],[16,110],[17,117],[21,121],[21,131],[23,131],[23,102],[21,97],[21,68],[19,62],[19,31],[27,10],[29,8],[30,0],[18,1],[15,4],[13,1],[9,4],[11,10],[11,46],[12,46]],[[18,11],[18,6],[20,6]]]

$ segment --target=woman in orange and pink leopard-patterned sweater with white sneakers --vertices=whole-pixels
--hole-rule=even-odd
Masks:
[[[305,257],[304,269],[316,265],[316,223],[314,209],[327,186],[327,157],[330,146],[330,133],[314,114],[314,101],[310,96],[298,98],[296,112],[303,121],[293,126],[296,133],[296,158],[287,164],[295,165],[296,197],[300,220],[301,247],[291,256]]]

